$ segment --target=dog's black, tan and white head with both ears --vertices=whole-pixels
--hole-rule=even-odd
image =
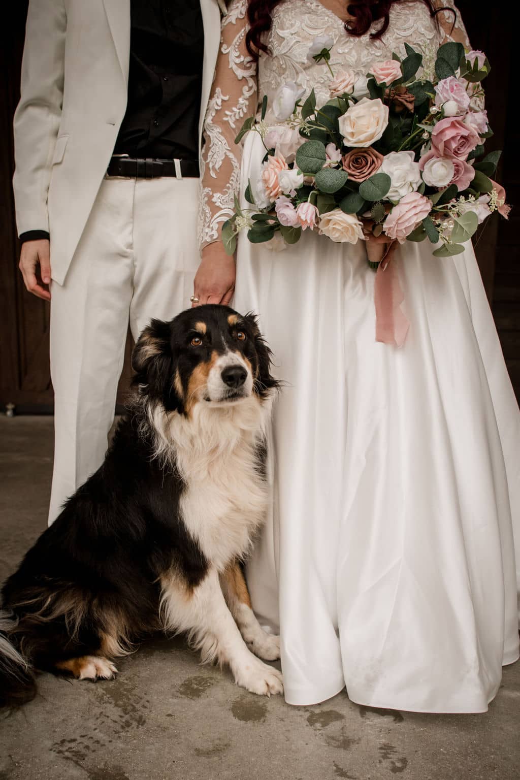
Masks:
[[[167,411],[189,416],[197,403],[264,400],[278,386],[271,351],[252,314],[225,306],[188,309],[170,322],[152,320],[133,350],[134,385]]]

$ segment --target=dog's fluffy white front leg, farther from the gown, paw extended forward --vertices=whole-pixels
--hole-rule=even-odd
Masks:
[[[278,669],[264,664],[246,647],[226,605],[216,569],[210,569],[193,588],[176,573],[161,577],[161,585],[166,629],[187,631],[202,660],[229,664],[235,683],[242,688],[264,696],[283,692]]]

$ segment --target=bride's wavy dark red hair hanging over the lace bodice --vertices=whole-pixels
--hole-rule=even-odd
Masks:
[[[271,30],[271,15],[275,6],[280,2],[281,0],[249,0],[247,7],[249,30],[246,34],[246,46],[249,54],[255,59],[258,58],[260,51],[269,53],[266,44],[262,42],[262,36]],[[347,2],[348,13],[355,17],[354,20],[345,22],[347,33],[356,36],[364,35],[374,22],[382,19],[383,24],[379,30],[370,33],[370,37],[380,38],[390,23],[391,5],[399,0],[354,0],[354,2],[347,0]],[[437,12],[442,10],[454,12],[453,9],[434,9],[432,0],[423,0],[423,2],[428,6],[431,16],[435,16]]]

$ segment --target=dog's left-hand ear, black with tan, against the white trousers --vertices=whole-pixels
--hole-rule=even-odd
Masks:
[[[163,395],[172,372],[170,324],[152,320],[144,328],[132,353],[135,385],[147,385],[149,393]]]

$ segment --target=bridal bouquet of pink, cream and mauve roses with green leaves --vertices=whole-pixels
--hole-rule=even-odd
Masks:
[[[433,254],[447,257],[493,211],[507,218],[504,189],[490,179],[501,152],[483,157],[493,134],[479,110],[490,70],[483,52],[450,42],[428,63],[405,44],[404,59],[373,62],[365,78],[333,73],[332,44],[318,37],[308,55],[331,71],[325,105],[314,90],[305,96],[287,83],[268,113],[264,97],[260,119],[246,119],[235,139],[259,133],[265,156],[246,189],[251,208],[235,198],[223,226],[228,254],[243,229],[253,243],[295,243],[310,228],[336,242],[370,232],[388,243],[429,239],[440,242]]]

